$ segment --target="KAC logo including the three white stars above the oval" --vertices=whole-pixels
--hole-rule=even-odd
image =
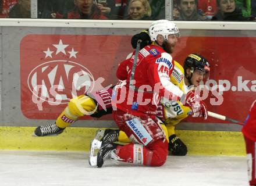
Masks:
[[[53,46],[42,51],[45,62],[35,66],[27,77],[27,85],[33,94],[32,101],[39,110],[42,109],[42,102],[49,105],[68,103],[70,99],[86,94],[94,85],[93,74],[76,59],[79,52],[73,47],[67,49],[69,45],[63,44],[62,40]]]

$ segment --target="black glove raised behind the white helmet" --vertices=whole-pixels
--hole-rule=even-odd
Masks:
[[[140,34],[135,34],[131,38],[131,46],[135,49],[138,40],[141,40],[140,49],[143,49],[145,46],[151,44],[150,35],[148,35],[148,30],[141,31]]]

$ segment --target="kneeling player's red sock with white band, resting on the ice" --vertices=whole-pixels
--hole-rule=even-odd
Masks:
[[[132,143],[124,146],[119,145],[116,148],[116,155],[128,163],[162,166],[168,155],[168,142],[157,140],[147,146]]]

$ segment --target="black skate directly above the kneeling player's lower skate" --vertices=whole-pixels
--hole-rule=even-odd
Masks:
[[[107,128],[106,130],[99,129],[96,131],[94,139],[103,142],[116,142],[118,141],[118,135],[120,130],[114,130]]]

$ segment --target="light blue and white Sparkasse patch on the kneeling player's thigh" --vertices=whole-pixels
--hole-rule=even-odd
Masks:
[[[133,133],[140,139],[140,141],[147,145],[149,142],[153,140],[150,134],[148,134],[148,131],[145,130],[143,125],[140,123],[140,121],[137,118],[131,119],[126,121],[127,126],[133,131]]]

